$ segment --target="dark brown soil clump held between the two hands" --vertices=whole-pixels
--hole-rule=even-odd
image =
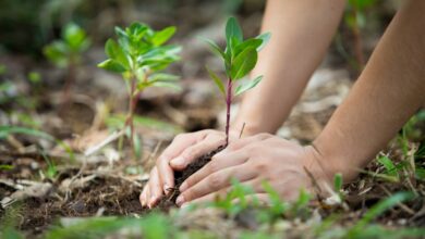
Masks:
[[[189,164],[184,171],[174,172],[175,187],[170,189],[171,193],[169,194],[169,197],[162,198],[161,201],[158,203],[157,207],[161,210],[168,210],[171,206],[177,206],[175,199],[180,194],[179,188],[183,184],[183,181],[186,180],[192,174],[201,169],[203,166],[205,166],[209,161],[211,161],[211,158],[214,155],[219,153],[224,148],[224,146],[220,146],[216,150],[199,156],[193,163]]]

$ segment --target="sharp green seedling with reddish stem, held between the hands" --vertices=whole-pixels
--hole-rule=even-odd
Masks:
[[[230,108],[233,96],[239,96],[246,90],[254,88],[262,80],[263,76],[247,81],[246,84],[239,84],[234,89],[234,85],[243,79],[257,63],[258,51],[270,39],[270,34],[262,34],[255,38],[244,40],[241,26],[234,17],[230,17],[226,25],[226,43],[224,51],[211,40],[205,39],[209,45],[211,51],[219,55],[224,63],[227,85],[222,83],[221,78],[207,67],[209,76],[221,91],[227,106],[226,117],[226,146],[229,144],[229,124],[230,124]]]

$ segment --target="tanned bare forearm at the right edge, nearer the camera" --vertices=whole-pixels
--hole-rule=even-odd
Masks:
[[[425,100],[425,2],[400,10],[314,146],[324,167],[356,175]]]

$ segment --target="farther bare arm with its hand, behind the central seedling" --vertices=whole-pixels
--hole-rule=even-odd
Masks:
[[[272,37],[259,53],[258,64],[253,71],[253,75],[264,75],[264,79],[243,99],[230,127],[233,136],[230,143],[244,123],[243,137],[272,134],[278,129],[326,53],[343,7],[341,0],[267,1],[262,32],[270,32]],[[217,130],[175,137],[151,169],[149,183],[141,194],[142,204],[154,205],[168,188],[174,186],[173,169],[183,169],[199,155],[223,143],[224,134]]]

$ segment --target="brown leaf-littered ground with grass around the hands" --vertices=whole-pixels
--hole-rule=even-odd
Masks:
[[[199,14],[204,17],[212,11],[204,10]],[[187,9],[179,11],[187,14]],[[183,75],[183,90],[153,88],[137,101],[138,159],[125,140],[120,146],[125,85],[96,67],[104,56],[101,46],[94,46],[76,71],[66,104],[62,102],[64,70],[24,54],[0,56],[2,238],[425,237],[423,110],[359,178],[340,190],[336,187],[330,198],[302,193],[296,202],[287,203],[269,190],[275,199],[271,206],[245,203],[250,189],[235,183],[228,198],[209,205],[178,209],[165,202],[142,209],[138,196],[149,169],[177,134],[223,128],[224,102],[204,71],[205,62],[212,68],[221,65],[195,38],[207,33],[220,41],[222,21],[197,32],[192,28],[198,22],[191,21],[175,39],[186,49],[183,63],[171,68]],[[244,28],[255,25],[248,35],[259,25],[252,23],[259,22],[260,14],[245,17]],[[366,52],[376,43],[372,38],[366,40]],[[309,143],[348,96],[359,72],[337,52],[333,42],[278,136]],[[32,80],[37,76],[39,80]],[[232,105],[234,112],[239,100]],[[104,146],[108,138],[112,140]],[[239,202],[231,203],[233,199]]]

